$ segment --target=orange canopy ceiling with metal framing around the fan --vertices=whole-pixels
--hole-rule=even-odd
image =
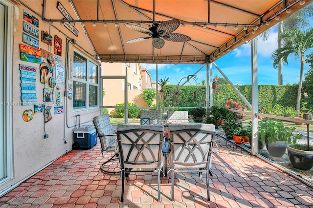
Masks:
[[[68,6],[72,8],[66,9],[69,13],[73,9],[70,13],[72,22],[84,25],[94,49],[92,55],[101,62],[207,63],[253,39],[312,1],[305,0],[301,5],[303,0],[69,0]],[[32,1],[20,2],[30,6]],[[69,21],[62,15],[55,15],[60,13],[57,10],[50,15],[45,13],[51,9],[48,7],[51,0],[44,0],[44,3],[44,21]],[[56,9],[55,5],[53,7]],[[160,49],[153,47],[152,38],[126,43],[149,35],[125,24],[140,24],[148,29],[153,23],[169,20],[178,20],[180,25],[174,32],[189,36],[191,40],[165,41]]]

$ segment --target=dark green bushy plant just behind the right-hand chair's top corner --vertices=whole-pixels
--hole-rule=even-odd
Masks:
[[[224,106],[213,105],[208,110],[205,123],[214,124],[215,128],[218,129],[220,125],[223,125],[224,120],[233,121],[233,113]]]

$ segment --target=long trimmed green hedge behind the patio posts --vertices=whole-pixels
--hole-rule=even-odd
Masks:
[[[237,85],[237,89],[244,95],[246,100],[252,104],[251,85]],[[202,91],[202,89],[204,90]],[[177,85],[166,84],[164,86],[164,99],[177,91]],[[224,105],[227,100],[233,99],[244,104],[243,100],[229,85],[219,85],[217,94],[213,91],[213,105]],[[296,106],[298,85],[259,85],[258,86],[258,105],[259,111],[269,105],[280,104],[284,107]],[[206,101],[205,85],[182,86],[177,93],[174,93],[166,102],[166,107],[191,107],[205,106]],[[196,96],[194,96],[196,95]]]

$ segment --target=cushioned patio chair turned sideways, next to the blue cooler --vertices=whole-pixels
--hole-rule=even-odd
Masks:
[[[108,114],[96,116],[93,118],[93,125],[95,126],[97,137],[99,137],[100,144],[101,144],[101,154],[102,154],[102,164],[100,166],[100,169],[103,172],[106,173],[120,173],[120,171],[116,170],[109,170],[109,167],[106,168],[105,165],[109,162],[112,162],[114,160],[118,160],[118,149],[117,147],[117,141],[116,141],[116,130],[111,124],[110,117]],[[114,151],[115,154],[109,158],[108,160],[104,160],[103,152],[112,152]]]

